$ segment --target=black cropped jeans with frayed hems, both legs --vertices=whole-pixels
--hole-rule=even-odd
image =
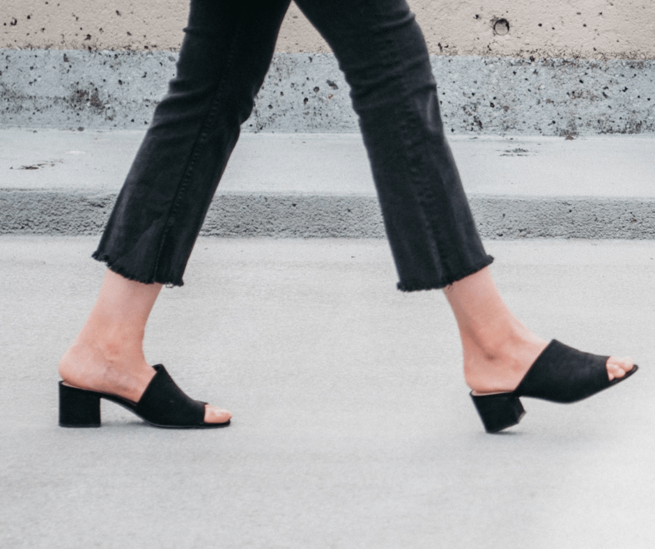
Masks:
[[[155,110],[93,257],[180,286],[270,65],[290,0],[192,0],[177,75]],[[350,84],[403,291],[493,261],[445,139],[429,54],[405,0],[296,0]]]

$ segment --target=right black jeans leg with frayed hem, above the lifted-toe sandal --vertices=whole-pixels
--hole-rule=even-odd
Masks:
[[[404,291],[489,265],[447,144],[436,83],[405,0],[296,0],[352,88]]]

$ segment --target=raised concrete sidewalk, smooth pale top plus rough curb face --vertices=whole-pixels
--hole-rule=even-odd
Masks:
[[[0,233],[97,234],[143,132],[0,130]],[[463,137],[486,238],[655,238],[655,137]],[[203,234],[381,237],[358,134],[244,134]]]

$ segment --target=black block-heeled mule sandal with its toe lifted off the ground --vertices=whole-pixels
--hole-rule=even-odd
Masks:
[[[616,385],[637,371],[635,364],[625,376],[610,381],[606,368],[608,358],[583,353],[553,339],[514,391],[471,392],[471,398],[487,433],[498,433],[516,425],[525,415],[519,396],[560,403],[577,402]]]

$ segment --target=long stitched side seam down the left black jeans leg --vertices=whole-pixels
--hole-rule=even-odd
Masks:
[[[175,197],[173,199],[173,203],[171,204],[171,208],[169,210],[169,213],[167,215],[166,223],[164,224],[164,230],[162,231],[162,237],[160,239],[160,245],[159,245],[159,250],[157,251],[157,257],[155,258],[155,265],[153,267],[153,278],[156,278],[157,270],[159,269],[160,265],[160,258],[162,256],[162,250],[164,249],[164,242],[166,241],[167,236],[170,233],[172,224],[170,224],[170,219],[173,217],[176,212],[178,212],[180,208],[180,203],[182,201],[183,194],[185,190],[188,187],[188,183],[190,179],[193,176],[193,171],[194,171],[194,166],[196,164],[196,161],[198,160],[198,157],[201,154],[201,148],[206,144],[206,138],[208,134],[208,128],[210,125],[213,123],[214,118],[217,113],[218,105],[219,105],[219,100],[222,97],[222,94],[225,89],[225,84],[227,81],[227,77],[229,75],[229,72],[233,66],[233,61],[235,57],[235,50],[236,50],[236,42],[238,42],[240,35],[242,33],[243,29],[243,22],[245,19],[245,13],[242,13],[240,20],[238,22],[238,26],[236,28],[236,31],[234,33],[234,38],[231,42],[229,53],[227,56],[227,62],[226,62],[226,67],[225,67],[225,72],[224,75],[219,82],[216,91],[214,92],[213,98],[211,100],[211,105],[209,108],[209,112],[207,117],[205,118],[205,121],[201,125],[198,137],[196,139],[196,143],[194,144],[192,153],[190,154],[190,159],[188,161],[187,167],[184,171],[184,174],[180,180],[180,184],[178,186],[178,190],[175,194]]]

